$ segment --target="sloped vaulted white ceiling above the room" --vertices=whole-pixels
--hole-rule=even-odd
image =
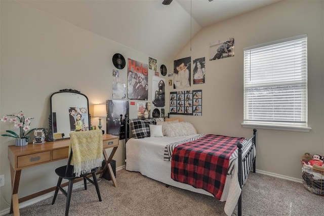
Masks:
[[[163,5],[163,0],[18,1],[153,58],[170,61],[201,28],[280,0],[173,0],[170,5]]]

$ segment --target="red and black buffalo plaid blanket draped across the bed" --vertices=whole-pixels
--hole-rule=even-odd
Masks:
[[[177,146],[172,154],[171,178],[204,189],[220,199],[229,157],[244,138],[206,135]]]

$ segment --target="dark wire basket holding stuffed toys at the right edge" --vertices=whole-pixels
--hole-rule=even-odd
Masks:
[[[324,170],[309,167],[303,161],[306,161],[301,161],[304,187],[314,194],[324,195]]]

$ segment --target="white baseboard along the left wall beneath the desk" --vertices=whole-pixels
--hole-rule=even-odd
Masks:
[[[119,166],[119,167],[116,168],[116,171],[121,170],[121,169],[124,169],[124,168],[125,168],[125,165]],[[79,189],[79,188],[83,188],[83,187],[84,187],[83,186],[83,181],[79,181],[79,182],[76,182],[76,183],[73,184],[73,190]],[[67,190],[67,186],[64,187],[64,189]],[[59,193],[62,193],[62,192],[59,191]],[[33,199],[27,200],[25,202],[19,203],[19,208],[23,208],[23,207],[26,207],[28,205],[32,205],[34,203],[40,202],[42,200],[45,200],[45,199],[50,198],[50,197],[53,197],[53,196],[54,196],[54,191],[49,192],[47,194],[44,194],[44,195],[35,197]],[[9,212],[10,212],[10,207],[9,208],[6,208],[6,209],[4,209],[2,211],[0,211],[0,215],[9,214]]]

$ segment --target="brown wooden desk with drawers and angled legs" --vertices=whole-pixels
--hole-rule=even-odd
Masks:
[[[56,187],[40,191],[35,194],[18,199],[18,188],[21,170],[31,166],[37,166],[44,163],[49,163],[61,159],[68,158],[70,140],[58,140],[54,142],[46,142],[43,144],[28,144],[26,146],[8,146],[8,158],[10,161],[11,185],[12,185],[12,202],[10,213],[19,215],[19,202],[23,202],[34,197],[54,191]],[[103,135],[103,154],[107,161],[107,165],[101,172],[100,178],[108,169],[111,180],[115,187],[118,187],[110,162],[115,154],[119,144],[119,138],[113,135]],[[108,156],[106,149],[113,148]],[[64,185],[64,184],[62,184]],[[67,184],[66,184],[67,185]]]

